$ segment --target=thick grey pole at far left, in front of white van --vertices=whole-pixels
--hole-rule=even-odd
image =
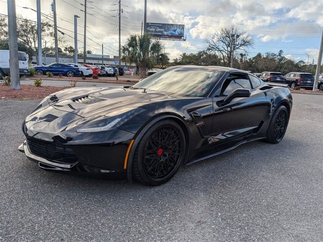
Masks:
[[[7,1],[11,89],[20,89],[16,0]]]

